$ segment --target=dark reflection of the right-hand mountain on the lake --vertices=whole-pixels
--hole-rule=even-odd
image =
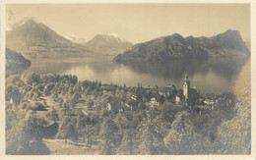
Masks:
[[[245,62],[245,57],[232,57],[222,59],[173,60],[168,63],[126,63],[125,66],[141,74],[148,73],[170,80],[183,79],[186,73],[193,77],[196,74],[207,75],[211,71],[226,80],[231,80],[239,74]]]

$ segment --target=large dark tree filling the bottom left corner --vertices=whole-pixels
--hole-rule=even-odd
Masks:
[[[46,126],[47,122],[43,118],[34,116],[29,116],[24,121],[18,121],[12,131],[7,133],[6,153],[49,154],[48,148],[41,141]]]

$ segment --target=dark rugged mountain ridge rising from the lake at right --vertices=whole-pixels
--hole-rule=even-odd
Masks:
[[[181,58],[208,58],[250,55],[237,30],[226,30],[212,37],[182,37],[178,33],[139,43],[116,56],[117,62],[161,62]]]

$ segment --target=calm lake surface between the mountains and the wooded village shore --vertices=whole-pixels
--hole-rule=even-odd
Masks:
[[[191,85],[197,86],[202,93],[221,93],[232,91],[242,67],[249,62],[245,57],[126,64],[110,59],[36,59],[32,60],[32,67],[27,72],[72,74],[79,80],[101,80],[129,86],[137,86],[141,82],[143,86],[173,83],[177,87],[181,87],[188,73]]]

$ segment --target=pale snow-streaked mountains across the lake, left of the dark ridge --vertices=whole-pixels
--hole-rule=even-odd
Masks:
[[[117,33],[97,34],[93,39],[59,35],[35,18],[24,18],[7,26],[6,46],[29,57],[111,55],[125,51],[132,43]]]

